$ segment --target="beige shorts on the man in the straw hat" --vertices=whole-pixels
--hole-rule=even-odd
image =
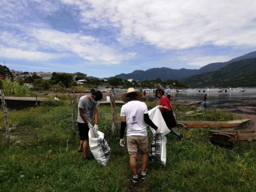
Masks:
[[[133,135],[126,137],[127,150],[129,155],[137,154],[138,150],[140,153],[148,152],[148,140],[147,136]]]

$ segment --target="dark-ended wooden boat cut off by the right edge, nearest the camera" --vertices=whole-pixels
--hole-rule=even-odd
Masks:
[[[256,141],[256,130],[211,130],[210,142],[223,146]]]

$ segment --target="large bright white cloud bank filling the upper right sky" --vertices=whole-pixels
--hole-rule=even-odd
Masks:
[[[77,5],[82,21],[120,29],[118,39],[133,37],[161,49],[201,45],[255,46],[256,1],[88,0]],[[88,9],[89,7],[89,9]],[[242,38],[241,38],[242,37]],[[128,44],[129,45],[129,44]]]

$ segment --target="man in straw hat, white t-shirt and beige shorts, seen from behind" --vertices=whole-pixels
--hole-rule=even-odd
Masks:
[[[130,155],[130,167],[132,170],[132,181],[138,182],[138,175],[136,171],[137,152],[141,154],[142,173],[141,179],[146,178],[147,167],[147,152],[148,140],[146,124],[150,125],[156,134],[160,133],[160,129],[148,117],[147,106],[141,102],[142,94],[135,91],[134,88],[129,88],[126,93],[121,96],[121,100],[126,104],[121,108],[121,130],[120,130],[120,145],[124,146],[124,131],[127,125],[126,141],[127,150]]]

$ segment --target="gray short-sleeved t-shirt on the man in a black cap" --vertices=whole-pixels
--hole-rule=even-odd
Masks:
[[[80,97],[79,101],[78,101],[77,122],[85,123],[84,120],[80,116],[79,108],[83,109],[84,116],[86,116],[87,120],[89,122],[91,122],[93,119],[94,108],[95,108],[95,106],[98,106],[98,105],[99,105],[99,102],[97,101],[97,104],[93,103],[92,100],[88,97],[88,95],[84,95],[84,96]]]

